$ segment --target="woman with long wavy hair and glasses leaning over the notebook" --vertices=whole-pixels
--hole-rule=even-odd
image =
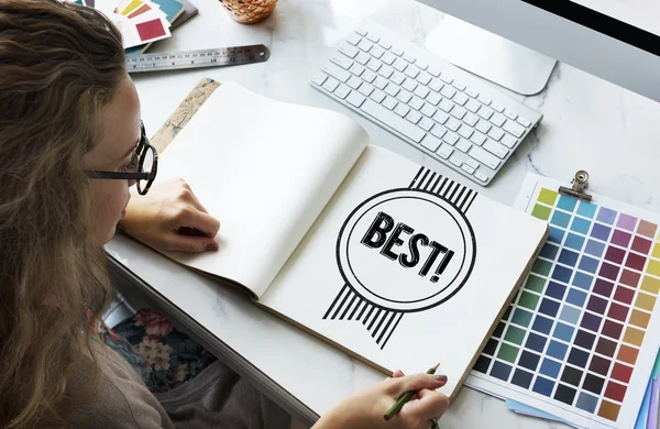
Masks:
[[[131,366],[96,340],[92,321],[110,296],[102,244],[121,221],[156,248],[213,251],[220,224],[182,180],[131,199],[134,178],[142,178],[139,194],[146,194],[153,176],[135,175],[151,152],[120,37],[89,8],[0,2],[3,428],[176,424]],[[183,235],[183,227],[208,237]],[[394,375],[346,399],[315,428],[430,427],[448,406],[435,392],[447,378]],[[385,422],[384,411],[407,391],[419,391],[417,398]],[[246,427],[241,414],[250,413],[258,410],[239,410],[231,425],[197,426]]]

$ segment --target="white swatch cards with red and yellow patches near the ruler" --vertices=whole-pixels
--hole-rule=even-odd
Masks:
[[[170,23],[167,12],[158,2],[150,0],[82,0],[91,8],[103,12],[123,37],[123,47],[130,48],[167,38]],[[183,9],[183,6],[180,6]]]

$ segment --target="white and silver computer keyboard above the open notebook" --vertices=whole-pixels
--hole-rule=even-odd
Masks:
[[[542,119],[371,21],[341,43],[311,85],[484,186]]]

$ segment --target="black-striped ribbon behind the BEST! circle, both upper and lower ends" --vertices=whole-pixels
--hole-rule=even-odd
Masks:
[[[419,168],[409,188],[436,194],[463,213],[468,212],[476,198],[474,190],[426,167]],[[400,311],[385,309],[364,300],[350,285],[343,285],[323,315],[323,319],[362,322],[381,350],[385,348],[403,317]]]

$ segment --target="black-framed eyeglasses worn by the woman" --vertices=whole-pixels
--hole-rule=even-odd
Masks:
[[[142,134],[140,135],[140,143],[135,148],[135,153],[131,158],[131,164],[136,162],[136,172],[85,172],[90,178],[99,179],[120,179],[120,180],[135,180],[138,183],[138,193],[140,195],[146,195],[148,188],[156,178],[156,172],[158,169],[158,153],[156,148],[148,143],[146,132],[144,131],[144,123],[140,122]]]

